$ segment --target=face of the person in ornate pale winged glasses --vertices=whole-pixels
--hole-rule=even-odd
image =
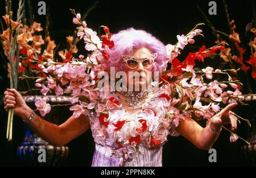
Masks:
[[[133,91],[146,90],[152,79],[152,66],[156,53],[147,48],[139,48],[131,55],[123,55],[123,71],[126,72],[127,88]]]

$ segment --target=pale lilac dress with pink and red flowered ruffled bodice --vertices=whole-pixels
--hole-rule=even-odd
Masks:
[[[179,124],[171,108],[168,90],[160,90],[133,114],[123,109],[118,96],[109,93],[104,106],[90,113],[90,129],[94,138],[93,167],[162,166],[162,146],[167,136],[177,136]],[[104,117],[100,110],[108,108]],[[98,112],[97,112],[98,111]],[[169,113],[168,113],[168,112]],[[167,117],[168,116],[168,117]]]

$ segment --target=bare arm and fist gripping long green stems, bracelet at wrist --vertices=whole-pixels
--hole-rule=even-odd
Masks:
[[[22,96],[16,90],[7,90],[5,92],[5,101],[7,110],[14,108],[15,115],[18,115],[23,120],[27,120],[30,117],[32,109],[26,105]],[[29,125],[35,133],[39,134],[47,142],[56,146],[63,146],[89,129],[89,119],[85,115],[81,115],[78,118],[71,116],[63,124],[55,125],[35,115]]]

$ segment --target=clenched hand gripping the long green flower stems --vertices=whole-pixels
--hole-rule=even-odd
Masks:
[[[22,95],[15,89],[9,89],[5,91],[5,109],[9,111],[10,108],[14,108],[14,115],[22,116],[22,113],[26,111],[28,105],[24,101]]]

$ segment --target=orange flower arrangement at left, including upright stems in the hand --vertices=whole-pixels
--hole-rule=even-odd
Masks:
[[[30,1],[28,1],[28,5],[30,6],[29,9],[32,9]],[[74,39],[73,36],[67,36],[67,49],[56,52],[57,45],[48,34],[49,15],[47,15],[46,19],[46,31],[43,31],[41,24],[34,22],[31,11],[29,18],[26,19],[23,15],[25,11],[24,1],[20,0],[15,22],[13,11],[11,11],[11,1],[6,1],[6,15],[2,16],[5,23],[1,23],[2,28],[6,27],[6,29],[0,35],[0,42],[6,56],[6,67],[9,72],[7,77],[10,78],[11,88],[18,89],[22,94],[35,95],[38,94],[40,89],[35,88],[38,84],[35,85],[35,80],[31,79],[47,76],[40,67],[41,63],[48,59],[64,63],[70,61],[73,54],[78,52],[76,43],[79,38]],[[56,59],[55,53],[59,54],[59,59]],[[18,81],[18,78],[21,80]],[[12,137],[12,120],[13,109],[10,109],[7,126],[7,138],[10,141]]]

